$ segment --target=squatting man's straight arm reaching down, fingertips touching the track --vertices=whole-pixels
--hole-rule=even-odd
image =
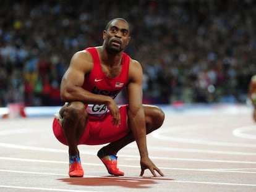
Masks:
[[[148,157],[147,149],[147,130],[145,123],[145,114],[142,106],[142,67],[139,62],[134,61],[130,65],[129,70],[129,85],[127,86],[128,94],[128,119],[129,127],[132,129],[135,141],[137,143],[140,152],[140,165],[142,172],[140,176],[143,175],[145,169],[150,169],[150,172],[156,177],[155,170],[163,176],[161,170],[151,162]]]

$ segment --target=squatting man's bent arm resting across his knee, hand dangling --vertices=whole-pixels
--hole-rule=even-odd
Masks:
[[[85,104],[105,104],[113,116],[113,124],[118,126],[121,117],[114,99],[102,94],[91,93],[82,88],[85,75],[92,69],[93,59],[90,53],[87,51],[76,52],[61,81],[61,100],[64,102],[81,101]]]

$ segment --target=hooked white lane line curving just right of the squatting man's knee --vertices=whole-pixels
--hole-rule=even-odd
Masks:
[[[173,130],[175,129],[175,130]],[[179,128],[176,127],[168,127],[168,129],[156,130],[151,133],[154,138],[164,141],[174,141],[179,143],[192,143],[192,144],[205,144],[211,146],[231,146],[231,147],[240,147],[240,148],[256,148],[256,144],[246,144],[246,143],[229,143],[229,142],[220,142],[220,141],[206,141],[206,140],[195,140],[189,138],[179,138],[168,136],[174,131],[184,131],[184,130],[191,130],[195,129],[195,127],[187,127],[187,128]]]

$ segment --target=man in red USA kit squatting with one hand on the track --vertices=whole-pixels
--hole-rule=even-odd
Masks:
[[[142,104],[142,67],[124,49],[130,41],[129,23],[116,18],[103,31],[103,45],[78,51],[61,81],[66,102],[53,120],[54,135],[69,146],[69,176],[83,177],[79,144],[107,144],[98,157],[111,175],[117,168],[117,152],[136,141],[140,153],[140,176],[149,169],[154,177],[163,173],[148,156],[146,135],[161,127],[164,113]],[[127,104],[114,98],[126,88]]]

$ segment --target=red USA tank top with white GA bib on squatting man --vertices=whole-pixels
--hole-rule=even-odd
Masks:
[[[90,74],[85,77],[82,88],[95,94],[103,94],[116,98],[117,94],[127,85],[130,57],[122,54],[122,69],[117,77],[107,77],[103,73],[100,64],[100,58],[96,48],[87,48],[93,57],[93,69]],[[103,114],[107,111],[104,105],[88,105],[87,111],[89,114]]]

